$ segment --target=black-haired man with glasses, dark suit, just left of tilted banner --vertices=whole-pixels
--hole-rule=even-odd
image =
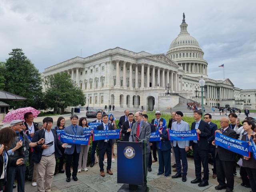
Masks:
[[[212,120],[211,114],[208,114],[208,113],[204,114],[204,121],[209,124],[210,132],[211,132],[211,136],[208,138],[208,143],[209,143],[209,152],[212,155],[212,162],[213,162],[212,178],[216,179],[217,172],[216,172],[216,161],[215,161],[215,146],[212,145],[212,141],[214,140],[215,131],[218,129],[218,127],[215,123],[211,122],[211,120]]]

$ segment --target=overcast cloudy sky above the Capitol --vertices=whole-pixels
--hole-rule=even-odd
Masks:
[[[117,46],[166,53],[182,13],[208,61],[208,76],[256,88],[255,0],[0,0],[0,61],[22,48],[40,72]]]

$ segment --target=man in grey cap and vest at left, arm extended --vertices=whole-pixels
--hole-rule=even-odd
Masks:
[[[10,147],[10,149],[13,149],[16,147],[17,143],[19,142],[22,144],[20,148],[18,148],[15,151],[12,151],[12,156],[10,156],[10,159],[17,160],[20,158],[23,158],[23,164],[20,166],[10,166],[7,174],[7,183],[6,183],[6,192],[12,192],[12,186],[15,179],[15,173],[18,181],[18,192],[24,192],[25,191],[25,175],[26,175],[26,162],[28,161],[28,149],[30,147],[35,147],[42,142],[44,142],[43,139],[39,140],[38,142],[30,142],[28,139],[28,136],[22,132],[23,130],[23,120],[13,120],[10,123],[11,128],[16,132],[17,136],[15,137],[14,143]]]

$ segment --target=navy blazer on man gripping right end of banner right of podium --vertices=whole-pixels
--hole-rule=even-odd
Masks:
[[[193,122],[191,125],[191,130],[195,129],[196,122]],[[199,140],[197,141],[199,150],[209,150],[208,138],[211,136],[210,126],[205,121],[201,120],[198,126],[200,130]],[[189,146],[193,145],[193,141],[189,142]]]

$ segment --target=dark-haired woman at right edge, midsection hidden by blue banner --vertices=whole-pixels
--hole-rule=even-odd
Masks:
[[[246,132],[242,136],[242,141],[250,142],[251,138],[254,138],[256,136],[256,132],[254,132],[255,124],[252,121],[245,120],[243,122],[244,125],[244,132]],[[256,192],[256,160],[251,157],[242,158],[243,160],[243,167],[246,169],[246,172],[249,176],[250,186],[252,188],[252,192]]]

